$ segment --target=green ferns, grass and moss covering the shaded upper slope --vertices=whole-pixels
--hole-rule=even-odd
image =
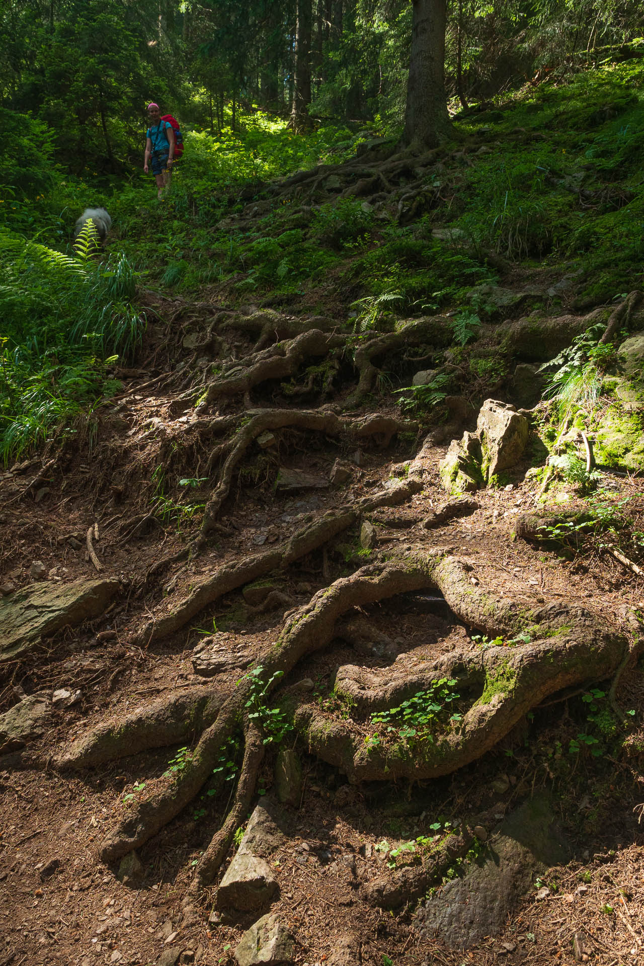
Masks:
[[[339,185],[321,185],[313,197],[267,189],[298,168],[352,156],[365,130],[329,124],[298,135],[262,112],[241,113],[235,132],[186,129],[184,156],[159,203],[140,169],[120,183],[63,172],[46,127],[5,112],[15,150],[0,149],[2,258],[10,266],[0,332],[4,458],[109,391],[104,359],[131,353],[141,334],[133,283],[127,294],[113,291],[126,274],[185,298],[217,286],[228,302],[330,311],[356,338],[401,319],[454,313],[449,364],[427,389],[409,390],[404,405],[422,414],[451,393],[485,398],[506,383],[513,360],[482,324],[562,310],[556,293],[503,301],[521,283],[502,260],[537,285],[542,275],[546,285],[569,279],[565,309],[610,304],[641,285],[643,91],[644,65],[633,59],[457,119],[459,140],[421,175],[423,203],[408,224],[395,204],[336,198]],[[81,278],[70,267],[71,229],[83,208],[98,205],[113,218],[110,254],[88,262]],[[16,240],[23,253],[10,256],[5,249]],[[44,267],[34,244],[72,262]],[[42,297],[49,276],[52,299]],[[401,371],[392,364],[378,391],[408,386],[414,352]],[[422,364],[440,367],[439,354]]]

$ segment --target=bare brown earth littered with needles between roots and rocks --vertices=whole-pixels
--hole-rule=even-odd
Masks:
[[[190,325],[172,323],[180,335]],[[144,357],[146,351],[154,350],[155,338],[156,327],[151,326]],[[145,364],[142,370],[146,370]],[[220,534],[206,554],[176,566],[172,581],[166,572],[146,583],[154,563],[182,549],[191,526],[188,520],[187,534],[177,525],[154,526],[143,535],[122,538],[127,535],[126,522],[137,519],[140,511],[136,481],[150,471],[148,427],[154,419],[154,425],[162,424],[172,439],[187,441],[192,422],[190,413],[178,412],[175,394],[146,386],[147,381],[147,375],[126,381],[122,399],[101,413],[91,446],[89,440],[84,446],[74,446],[68,469],[52,479],[40,502],[33,497],[16,498],[40,465],[38,460],[7,471],[0,483],[2,549],[5,560],[11,561],[5,577],[20,585],[28,582],[32,561],[40,559],[48,572],[58,568],[65,579],[91,578],[95,571],[84,548],[74,551],[67,541],[70,535],[82,540],[88,526],[98,522],[95,546],[103,573],[118,577],[123,586],[123,594],[110,612],[80,631],[53,639],[29,668],[15,669],[3,691],[5,706],[12,703],[14,688],[28,693],[59,688],[81,691],[72,707],[53,712],[40,745],[45,755],[53,756],[79,728],[86,729],[106,716],[123,716],[151,697],[203,687],[204,678],[193,672],[191,664],[192,649],[202,632],[193,627],[170,639],[139,646],[130,642],[132,625],[146,612],[158,614],[159,607],[162,611],[164,604],[169,606],[185,596],[194,582],[215,567],[238,560],[248,548],[283,541],[302,515],[321,514],[378,489],[391,476],[392,468],[408,460],[418,447],[414,440],[356,456],[350,446],[339,446],[334,440],[317,441],[314,448],[304,439],[294,440],[284,452],[289,468],[327,477],[341,456],[349,464],[353,461],[350,480],[313,495],[310,490],[280,495],[266,478],[251,485],[239,483],[222,518],[230,531]],[[445,445],[432,449],[431,469],[422,492],[403,508],[378,511],[378,543],[383,550],[441,548],[456,552],[471,562],[472,573],[481,582],[493,583],[515,598],[530,599],[536,592],[542,600],[581,602],[615,626],[620,625],[625,607],[644,607],[644,584],[625,575],[616,561],[595,555],[579,563],[511,540],[513,519],[534,502],[534,483],[524,480],[525,466],[518,466],[503,489],[477,494],[479,508],[470,516],[429,532],[423,530],[419,523],[447,500],[437,472],[445,449]],[[128,485],[118,505],[106,506],[109,483],[125,476],[134,483]],[[636,479],[607,474],[604,485],[614,488],[616,496],[639,501]],[[290,606],[325,586],[328,568],[335,572],[337,560],[329,562],[318,552],[282,574],[280,590],[291,599]],[[162,586],[167,587],[165,596]],[[406,661],[428,660],[453,649],[470,631],[440,601],[423,601],[422,596],[403,594],[368,609],[370,619],[396,641]],[[217,629],[227,631],[235,642],[250,645],[249,656],[255,657],[275,639],[283,609],[282,604],[278,611],[254,612],[237,591],[224,597],[216,610],[200,615],[196,623],[208,627],[214,617]],[[106,630],[115,634],[108,639],[98,637]],[[297,668],[297,675],[320,684],[321,692],[333,671],[354,659],[351,648],[339,641],[336,644]],[[391,656],[361,655],[367,668],[387,668],[391,661]],[[223,687],[232,686],[238,674],[233,670],[217,680]],[[628,681],[624,679],[618,697],[641,720],[644,674],[634,669]],[[271,907],[284,923],[294,927],[296,961],[322,963],[338,949],[339,937],[352,934],[358,938],[361,959],[347,953],[347,963],[380,964],[389,961],[386,957],[396,964],[455,966],[498,959],[574,962],[571,934],[582,928],[593,961],[640,962],[644,830],[636,807],[644,797],[644,776],[617,761],[598,770],[598,762],[592,758],[580,759],[573,773],[568,767],[561,768],[567,764],[565,752],[562,761],[561,750],[557,752],[554,744],[566,743],[575,730],[562,706],[538,711],[520,741],[487,754],[452,777],[416,784],[351,786],[337,769],[304,755],[301,804],[299,809],[288,810],[293,838],[275,864],[280,897]],[[513,750],[511,755],[509,750]],[[209,802],[204,809],[184,810],[144,846],[140,853],[146,869],[142,888],[122,885],[112,868],[97,862],[100,832],[124,809],[124,793],[162,772],[168,757],[165,750],[142,753],[78,777],[40,767],[0,773],[5,816],[0,873],[3,964],[152,963],[168,948],[168,942],[194,952],[197,961],[205,964],[228,961],[252,917],[210,924],[208,905],[196,921],[182,912],[182,899],[193,874],[191,864],[208,842],[213,819],[216,825],[219,800],[212,807]],[[507,786],[501,794],[494,790],[500,786],[493,785],[499,778]],[[269,792],[272,773],[268,762],[260,781]],[[492,809],[500,817],[526,794],[546,786],[558,799],[575,859],[569,866],[547,873],[550,895],[538,900],[535,891],[528,896],[518,912],[509,915],[502,935],[490,937],[466,954],[452,952],[419,934],[410,909],[392,917],[361,900],[360,883],[384,866],[384,855],[377,850],[383,839],[393,844],[426,834],[443,816],[457,822]],[[351,857],[348,866],[338,861],[347,856]],[[579,890],[580,883],[587,887]],[[607,908],[617,911],[602,911]]]

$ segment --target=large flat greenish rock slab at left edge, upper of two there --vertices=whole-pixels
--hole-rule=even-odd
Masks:
[[[98,617],[118,590],[114,580],[42,581],[0,598],[0,664],[23,657],[63,627]]]

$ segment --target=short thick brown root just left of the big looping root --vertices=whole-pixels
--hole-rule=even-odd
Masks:
[[[128,754],[189,742],[215,721],[223,701],[215,688],[160,697],[125,718],[98,725],[72,742],[54,763],[57,768],[96,767]]]

